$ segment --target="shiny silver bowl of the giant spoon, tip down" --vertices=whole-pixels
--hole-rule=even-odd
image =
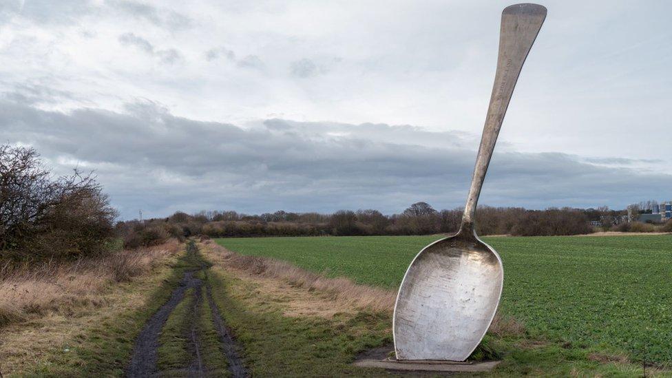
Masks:
[[[467,359],[492,322],[503,279],[501,258],[473,230],[426,246],[397,296],[397,359]]]

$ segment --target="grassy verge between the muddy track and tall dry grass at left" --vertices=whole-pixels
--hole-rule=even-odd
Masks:
[[[27,322],[4,326],[0,333],[3,375],[123,375],[134,338],[178,285],[181,272],[189,268],[183,246],[157,249],[165,253],[155,253],[147,271],[125,282],[104,280],[107,275],[101,274],[103,283],[90,286],[88,293],[96,295],[95,306],[70,306],[67,311],[61,306],[59,311],[33,314]]]

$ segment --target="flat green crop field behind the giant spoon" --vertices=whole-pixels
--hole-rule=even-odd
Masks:
[[[437,236],[230,238],[218,244],[396,288]],[[502,257],[501,311],[533,336],[672,365],[672,235],[484,238]]]

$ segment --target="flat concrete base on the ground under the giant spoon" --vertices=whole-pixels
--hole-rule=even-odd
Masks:
[[[501,361],[456,362],[456,361],[399,361],[397,359],[359,359],[355,366],[387,370],[426,372],[482,372],[490,371]]]

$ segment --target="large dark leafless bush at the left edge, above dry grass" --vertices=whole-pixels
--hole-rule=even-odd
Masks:
[[[99,253],[116,211],[92,174],[53,178],[34,149],[0,145],[0,251],[30,258]]]

